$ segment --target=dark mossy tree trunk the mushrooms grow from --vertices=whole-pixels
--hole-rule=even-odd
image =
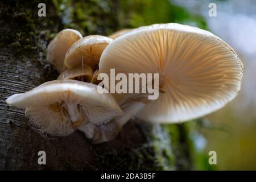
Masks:
[[[190,169],[184,137],[174,146],[168,126],[129,121],[116,139],[93,145],[79,131],[68,137],[43,138],[28,126],[24,109],[7,106],[5,100],[12,94],[57,77],[56,70],[47,63],[46,48],[53,33],[66,26],[61,19],[64,15],[59,5],[46,1],[47,16],[39,18],[38,3],[0,2],[0,169]],[[77,26],[76,16],[72,22]],[[115,19],[113,22],[117,23]],[[117,28],[114,23],[105,24],[97,33]],[[94,34],[95,30],[87,28],[84,32]],[[175,132],[183,136],[181,131],[182,126],[175,127]],[[39,151],[46,152],[46,165],[38,164]]]

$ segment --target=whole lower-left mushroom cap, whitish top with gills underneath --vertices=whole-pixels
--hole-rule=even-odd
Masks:
[[[111,94],[98,93],[97,85],[76,80],[49,81],[6,102],[27,107],[31,125],[47,135],[68,135],[85,123],[100,125],[122,114]]]

